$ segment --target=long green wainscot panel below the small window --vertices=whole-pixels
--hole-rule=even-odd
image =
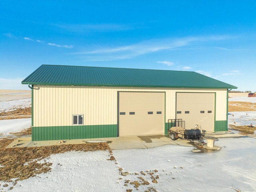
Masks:
[[[117,137],[117,125],[32,127],[32,141]]]

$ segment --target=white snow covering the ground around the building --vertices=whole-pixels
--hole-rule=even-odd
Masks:
[[[228,118],[229,124],[234,121],[238,125],[248,124],[250,120],[256,124],[256,112],[232,112]],[[31,119],[1,120],[0,133],[8,136],[9,132],[26,126],[31,126]],[[51,172],[18,181],[12,190],[11,183],[4,187],[6,182],[0,181],[0,191],[126,192],[126,189],[133,189],[144,192],[148,187],[158,192],[235,192],[233,188],[242,192],[255,191],[256,138],[220,138],[215,145],[221,149],[210,153],[194,153],[194,147],[177,145],[113,150],[118,164],[107,160],[108,151],[53,154],[45,159],[52,162]],[[130,174],[120,175],[119,167]],[[146,171],[153,172],[155,178],[159,176],[158,183],[153,183]],[[139,186],[139,190],[130,184],[124,186],[126,180],[139,181],[140,176],[150,184]]]

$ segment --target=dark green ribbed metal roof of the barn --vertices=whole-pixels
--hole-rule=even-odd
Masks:
[[[42,65],[22,81],[32,85],[237,88],[190,71]]]

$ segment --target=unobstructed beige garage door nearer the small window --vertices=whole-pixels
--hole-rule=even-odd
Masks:
[[[164,134],[164,93],[119,92],[119,136]]]

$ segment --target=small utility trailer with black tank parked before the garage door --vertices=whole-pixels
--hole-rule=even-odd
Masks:
[[[170,127],[169,127],[170,126]],[[185,121],[182,119],[169,119],[168,120],[168,134],[172,140],[182,139],[189,140],[192,143],[204,145],[205,130],[202,130],[201,126],[196,125],[195,128],[185,129]]]

